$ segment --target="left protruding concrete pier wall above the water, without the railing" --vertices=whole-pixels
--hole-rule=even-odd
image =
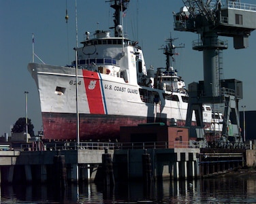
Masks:
[[[67,180],[93,180],[105,150],[0,151],[0,182],[54,180],[54,157],[65,158]],[[114,150],[108,150],[113,155]],[[79,173],[78,173],[79,171]]]

